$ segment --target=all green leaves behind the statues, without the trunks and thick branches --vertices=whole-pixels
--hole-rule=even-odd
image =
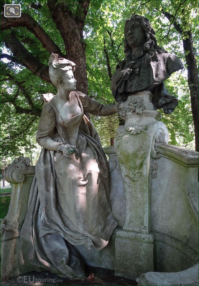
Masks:
[[[29,13],[50,38],[66,54],[64,41],[57,30],[47,7],[47,1],[39,1],[41,9],[31,8],[33,1],[7,1],[6,3],[21,4],[22,13]],[[75,15],[79,1],[66,1],[70,12]],[[35,2],[36,3],[36,2]],[[175,19],[169,21],[163,12],[175,15]],[[194,139],[193,119],[190,106],[190,92],[187,83],[187,71],[185,65],[185,54],[182,46],[182,37],[186,37],[186,31],[192,31],[192,41],[198,64],[198,1],[133,1],[113,0],[97,1],[91,0],[84,25],[84,38],[86,42],[86,69],[88,75],[88,95],[98,102],[104,104],[114,103],[111,93],[110,74],[107,69],[107,58],[109,57],[110,70],[113,75],[116,65],[125,57],[123,52],[124,24],[125,20],[134,13],[147,17],[156,31],[157,43],[163,46],[169,53],[174,53],[183,62],[185,68],[181,72],[172,75],[166,81],[166,87],[170,94],[178,97],[179,105],[171,115],[163,115],[170,133],[170,144],[177,144],[192,148],[190,142]],[[180,24],[184,31],[180,35],[173,21]],[[3,40],[10,37],[11,30],[3,31],[1,38],[1,52],[5,48]],[[36,36],[25,27],[12,28],[12,33],[22,42],[27,50],[43,64],[47,64],[49,52],[42,46]],[[72,43],[71,43],[72,44]],[[4,50],[5,52],[5,50]],[[14,56],[10,50],[8,53]],[[26,154],[30,157],[32,149],[36,147],[35,135],[42,110],[42,93],[56,93],[56,88],[30,70],[12,61],[2,62],[1,80],[9,76],[15,81],[3,80],[1,86],[1,156],[19,156]],[[31,109],[25,96],[19,92],[16,81],[22,82],[31,101],[35,114],[23,113],[21,109]],[[17,107],[16,107],[17,106]],[[117,115],[113,117],[94,117],[91,121],[96,127],[103,146],[109,145],[110,138],[114,138],[118,127]],[[35,158],[38,157],[37,150]]]

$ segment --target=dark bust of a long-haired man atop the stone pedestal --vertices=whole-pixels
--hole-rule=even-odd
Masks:
[[[117,101],[140,91],[153,94],[153,104],[170,114],[178,100],[169,95],[164,81],[183,68],[182,62],[156,43],[155,32],[145,17],[134,15],[125,22],[125,59],[116,67],[111,89]]]

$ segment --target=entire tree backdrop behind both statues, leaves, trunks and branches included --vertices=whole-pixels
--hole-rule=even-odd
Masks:
[[[165,85],[179,105],[162,121],[170,144],[198,146],[198,1],[6,1],[21,4],[21,17],[1,17],[1,154],[17,156],[34,147],[44,102],[56,94],[48,75],[48,58],[57,53],[76,63],[77,90],[98,102],[114,99],[112,74],[124,54],[124,24],[133,14],[145,16],[157,43],[180,58],[184,70]],[[5,2],[1,1],[1,11]],[[103,146],[110,145],[117,115],[90,116]]]

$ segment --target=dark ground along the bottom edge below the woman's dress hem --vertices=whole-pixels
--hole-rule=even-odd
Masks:
[[[32,271],[27,274],[10,278],[7,281],[1,282],[3,286],[9,285],[118,285],[118,286],[134,286],[137,285],[135,280],[129,280],[114,275],[114,270],[103,269],[99,267],[87,266],[85,269],[85,281],[71,281],[66,278],[59,277],[49,271],[36,272]]]

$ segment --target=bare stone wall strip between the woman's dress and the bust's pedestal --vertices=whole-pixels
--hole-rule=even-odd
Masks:
[[[94,248],[88,250],[85,246],[74,246],[78,253],[81,255],[85,264],[102,267],[106,269],[115,269],[115,238],[119,229],[125,223],[126,216],[126,199],[124,193],[124,185],[121,175],[117,154],[114,146],[103,148],[105,154],[109,156],[109,169],[110,169],[110,194],[109,202],[111,211],[115,217],[118,227],[113,232],[108,245],[100,251]]]

